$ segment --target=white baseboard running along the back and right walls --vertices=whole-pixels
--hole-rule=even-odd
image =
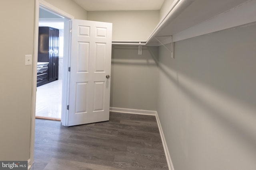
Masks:
[[[174,170],[173,165],[172,165],[171,156],[169,154],[169,150],[168,150],[165,138],[164,138],[164,132],[163,132],[157,111],[140,110],[140,109],[126,109],[126,108],[119,108],[119,107],[110,107],[110,111],[117,112],[117,113],[131,113],[131,114],[139,114],[139,115],[154,115],[154,116],[156,116],[156,122],[157,122],[160,136],[162,139],[162,144],[164,147],[164,153],[165,153],[166,161],[168,164],[168,168],[169,168],[169,170]]]

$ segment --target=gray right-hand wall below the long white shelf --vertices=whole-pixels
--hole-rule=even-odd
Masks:
[[[159,49],[158,114],[175,170],[256,169],[256,25]]]

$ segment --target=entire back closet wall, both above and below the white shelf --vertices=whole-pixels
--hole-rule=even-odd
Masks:
[[[88,20],[113,23],[112,41],[146,41],[159,21],[154,11],[89,11]],[[156,110],[158,47],[112,46],[110,107]]]

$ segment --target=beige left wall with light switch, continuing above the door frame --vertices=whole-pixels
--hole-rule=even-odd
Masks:
[[[76,19],[86,19],[86,11],[72,0],[46,1]],[[0,31],[0,160],[30,158],[33,66],[25,66],[25,55],[34,51],[34,3],[5,0],[0,6],[1,24],[5,25]]]

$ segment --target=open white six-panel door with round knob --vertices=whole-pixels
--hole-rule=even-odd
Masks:
[[[112,23],[71,22],[68,126],[108,121]]]

